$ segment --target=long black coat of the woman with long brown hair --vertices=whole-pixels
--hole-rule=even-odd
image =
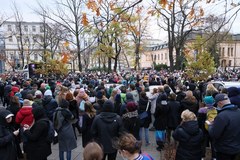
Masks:
[[[83,114],[82,122],[82,146],[85,147],[90,141],[92,141],[91,127],[94,117],[89,117],[88,114]]]

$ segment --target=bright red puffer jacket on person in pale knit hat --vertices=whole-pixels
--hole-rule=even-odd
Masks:
[[[24,126],[25,124],[31,126],[33,123],[33,114],[32,114],[32,106],[23,106],[17,113],[16,123]]]

